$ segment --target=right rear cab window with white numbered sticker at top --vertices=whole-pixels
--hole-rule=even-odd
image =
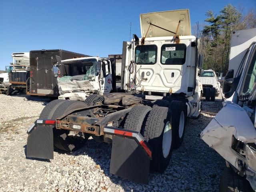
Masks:
[[[161,63],[164,65],[183,65],[186,61],[185,44],[164,44],[161,47]]]

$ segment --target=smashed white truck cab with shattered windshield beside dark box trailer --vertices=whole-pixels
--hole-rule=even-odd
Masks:
[[[98,57],[83,57],[62,60],[55,67],[64,65],[69,76],[58,77],[55,69],[60,96],[59,99],[81,100],[91,94],[108,94],[112,91],[110,60]]]

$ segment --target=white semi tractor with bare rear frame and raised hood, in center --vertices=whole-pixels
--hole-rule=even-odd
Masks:
[[[28,157],[52,159],[54,147],[73,151],[92,136],[112,143],[111,174],[147,183],[150,169],[166,170],[186,119],[200,115],[202,56],[189,10],[141,14],[140,25],[142,38],[123,43],[121,90],[50,102],[28,129]]]

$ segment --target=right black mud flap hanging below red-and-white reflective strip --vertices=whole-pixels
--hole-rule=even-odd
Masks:
[[[148,184],[150,157],[134,138],[112,136],[110,173]]]

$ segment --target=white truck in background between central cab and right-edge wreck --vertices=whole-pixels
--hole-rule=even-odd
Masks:
[[[206,101],[215,101],[215,96],[220,94],[220,82],[218,82],[216,73],[211,69],[204,70],[199,80],[203,85],[203,95]]]

